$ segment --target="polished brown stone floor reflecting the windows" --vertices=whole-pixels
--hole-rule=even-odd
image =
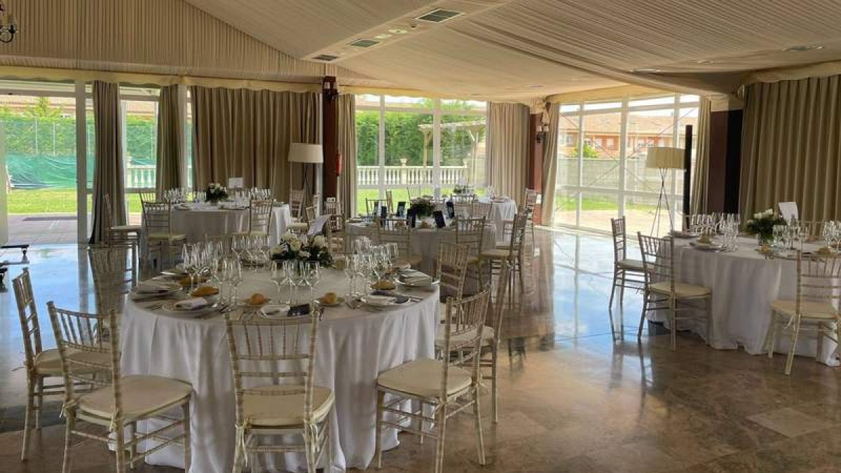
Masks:
[[[786,377],[784,357],[713,350],[686,334],[676,353],[668,337],[648,335],[637,343],[642,302],[633,292],[626,293],[625,332],[615,341],[606,307],[609,238],[539,231],[536,254],[524,308],[505,328],[515,349],[502,357],[500,423],[484,416],[488,465],[476,463],[473,420],[456,417],[447,423],[445,470],[839,470],[838,369],[798,358]],[[91,303],[87,268],[77,263],[75,247],[35,249],[31,259],[41,306],[50,299],[71,307]],[[61,425],[41,433],[34,450],[40,457],[26,465],[18,460],[20,435],[12,430],[19,428],[24,399],[23,375],[15,369],[21,351],[13,300],[0,295],[0,430],[8,431],[0,433],[0,470],[55,471]],[[54,409],[46,417],[55,416]],[[84,449],[76,471],[114,470],[100,444]],[[383,471],[429,471],[434,457],[434,442],[421,445],[404,435],[383,454]]]

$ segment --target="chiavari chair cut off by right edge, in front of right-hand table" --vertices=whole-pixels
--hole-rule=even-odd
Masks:
[[[795,300],[775,300],[771,303],[770,327],[765,339],[768,358],[774,356],[777,332],[788,332],[790,345],[785,359],[785,375],[791,375],[791,365],[797,340],[803,335],[817,337],[815,359],[822,354],[823,338],[835,343],[841,340],[841,256],[819,252],[804,255],[797,252]]]

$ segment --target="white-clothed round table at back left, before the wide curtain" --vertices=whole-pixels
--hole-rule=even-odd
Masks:
[[[275,205],[272,209],[269,237],[272,245],[292,221],[289,205]],[[204,235],[219,237],[248,230],[248,209],[225,208],[225,205],[181,204],[172,207],[172,233],[182,233],[188,242],[201,242]]]

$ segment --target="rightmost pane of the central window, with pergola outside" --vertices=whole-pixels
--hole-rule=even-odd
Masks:
[[[441,187],[450,194],[457,183],[484,188],[485,117],[477,115],[442,115],[441,117]]]

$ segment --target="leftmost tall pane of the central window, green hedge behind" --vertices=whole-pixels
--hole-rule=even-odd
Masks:
[[[358,100],[357,95],[357,100]],[[357,110],[357,211],[379,197],[379,112]]]

